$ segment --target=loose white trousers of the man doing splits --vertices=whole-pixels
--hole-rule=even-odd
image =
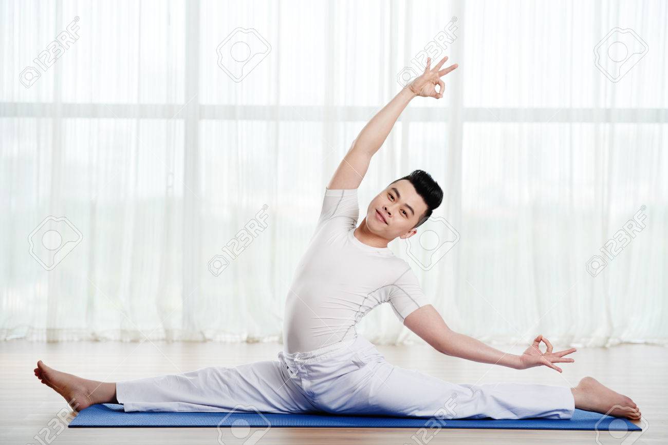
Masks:
[[[313,352],[116,384],[126,411],[329,412],[436,418],[568,419],[570,388],[452,384],[393,366],[357,337]]]

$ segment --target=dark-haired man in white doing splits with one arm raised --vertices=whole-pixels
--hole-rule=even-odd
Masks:
[[[568,419],[574,408],[639,420],[633,401],[585,377],[575,388],[539,384],[452,384],[385,361],[357,336],[359,320],[389,302],[407,328],[439,352],[518,370],[574,362],[552,352],[537,336],[524,354],[504,354],[448,328],[428,303],[408,264],[387,244],[417,233],[443,199],[421,170],[397,179],[367,207],[357,226],[357,187],[401,111],[414,97],[443,96],[441,77],[457,65],[424,73],[402,89],[362,129],[323,199],[309,248],[297,266],[285,309],[284,350],[279,360],[234,368],[210,367],[180,375],[118,383],[65,374],[37,362],[35,375],[75,410],[96,403],[122,403],[126,411],[226,411],[246,406],[261,412],[330,412],[444,418]],[[439,85],[438,92],[436,85]],[[540,351],[540,342],[546,352]]]

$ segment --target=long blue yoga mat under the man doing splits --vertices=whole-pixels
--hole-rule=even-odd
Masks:
[[[570,420],[436,420],[415,417],[331,416],[257,412],[124,412],[122,405],[92,405],[81,410],[70,428],[150,426],[251,426],[327,428],[496,428],[502,430],[640,431],[629,420],[575,410]]]

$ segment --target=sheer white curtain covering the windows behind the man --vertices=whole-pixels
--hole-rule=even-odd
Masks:
[[[0,337],[280,338],[331,173],[443,51],[446,96],[409,105],[361,214],[413,169],[440,182],[430,229],[390,246],[459,332],[665,344],[667,22],[660,1],[4,1]],[[621,79],[614,41],[595,63],[615,27],[641,57]],[[220,47],[248,38],[232,79]],[[360,331],[412,337],[385,307]]]

